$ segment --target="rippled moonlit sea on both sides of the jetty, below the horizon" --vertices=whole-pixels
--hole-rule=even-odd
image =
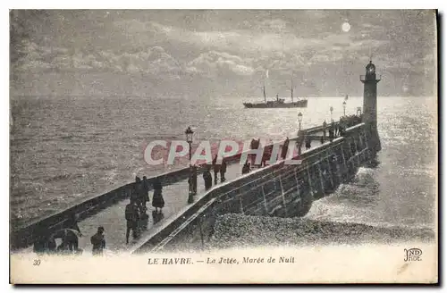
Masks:
[[[13,96],[11,225],[27,225],[129,183],[136,175],[185,167],[186,160],[173,166],[149,165],[143,154],[150,141],[184,139],[188,126],[195,130],[196,145],[223,138],[283,139],[296,134],[299,112],[301,127],[313,127],[338,120],[344,113],[355,114],[363,97],[350,96],[345,109],[343,100],[344,96],[310,97],[307,108],[244,109],[242,102],[259,98]],[[305,218],[435,230],[436,97],[380,96],[377,104],[382,142],[378,165],[360,168],[352,182],[316,201]],[[249,216],[240,215],[238,222],[244,221],[256,225]]]

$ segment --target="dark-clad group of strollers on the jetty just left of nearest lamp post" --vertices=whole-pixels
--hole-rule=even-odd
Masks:
[[[160,180],[155,179],[152,183],[154,196],[152,197],[152,206],[155,207],[153,216],[158,218],[156,214],[162,214],[164,207],[163,186]],[[131,202],[126,205],[124,217],[126,219],[126,244],[129,244],[129,237],[132,232],[134,239],[139,237],[140,230],[148,227],[148,207],[149,199],[149,183],[146,176],[143,180],[136,177],[134,187],[131,191]]]

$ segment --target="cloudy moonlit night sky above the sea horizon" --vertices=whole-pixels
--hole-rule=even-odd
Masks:
[[[371,55],[379,96],[435,94],[434,11],[12,15],[13,95],[361,96]]]

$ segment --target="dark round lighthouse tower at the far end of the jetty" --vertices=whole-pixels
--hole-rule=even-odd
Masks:
[[[377,83],[380,81],[380,77],[377,78],[375,75],[375,65],[372,61],[369,61],[366,69],[366,74],[360,75],[360,81],[364,84],[362,120],[367,127],[369,149],[376,153],[382,148],[377,132]]]

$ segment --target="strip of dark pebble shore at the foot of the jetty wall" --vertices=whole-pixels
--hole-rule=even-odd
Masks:
[[[209,249],[261,246],[390,244],[433,241],[433,230],[401,226],[376,227],[355,222],[323,222],[228,213],[215,222]]]

